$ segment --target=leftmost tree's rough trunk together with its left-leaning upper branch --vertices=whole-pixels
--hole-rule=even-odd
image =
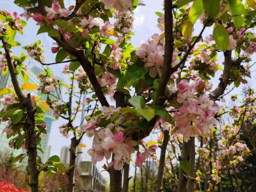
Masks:
[[[31,101],[31,96],[28,94],[28,97],[25,98],[22,91],[20,90],[19,81],[17,79],[17,74],[15,73],[15,68],[12,63],[12,58],[10,56],[10,50],[6,48],[6,43],[4,41],[4,51],[6,53],[6,60],[8,69],[10,71],[10,76],[12,79],[13,87],[15,93],[19,97],[20,103],[26,109],[26,126],[24,131],[26,132],[26,147],[28,154],[28,167],[29,167],[29,176],[32,192],[38,191],[38,168],[36,163],[37,151],[36,151],[36,134],[35,134],[35,110]]]

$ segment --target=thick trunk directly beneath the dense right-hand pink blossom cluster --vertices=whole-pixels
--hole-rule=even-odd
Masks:
[[[182,153],[180,157],[180,168],[179,168],[179,182],[178,182],[178,192],[185,192],[187,189],[188,179],[184,175],[186,173],[182,170],[182,162],[188,161],[190,166],[189,177],[195,176],[195,137],[190,138],[188,142],[183,141]],[[189,179],[191,180],[191,179]],[[195,180],[189,181],[188,191],[193,191]]]

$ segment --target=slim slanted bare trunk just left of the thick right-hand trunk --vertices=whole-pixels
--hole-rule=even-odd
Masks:
[[[160,154],[159,168],[157,173],[156,192],[161,191],[161,185],[162,185],[163,173],[164,173],[164,161],[165,161],[165,154],[166,154],[166,148],[168,145],[168,140],[169,140],[169,131],[164,131],[164,139],[161,145],[161,154]]]

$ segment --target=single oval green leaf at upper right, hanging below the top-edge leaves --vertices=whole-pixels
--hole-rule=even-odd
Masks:
[[[213,29],[214,40],[220,50],[225,51],[229,44],[228,31],[223,25],[218,25]]]

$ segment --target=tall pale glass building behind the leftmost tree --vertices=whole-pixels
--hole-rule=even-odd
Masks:
[[[29,80],[28,83],[32,83],[35,84],[37,86],[40,86],[40,81],[38,79],[38,74],[44,72],[43,69],[38,68],[38,67],[32,67],[29,70]],[[2,74],[2,72],[0,71],[0,74]],[[18,76],[18,81],[20,83],[20,85],[24,84],[24,81],[22,80],[21,76]],[[10,74],[7,73],[6,75],[2,76],[0,75],[0,89],[1,88],[6,88],[8,86],[10,86],[12,84],[12,79],[10,77]],[[42,100],[46,100],[47,95],[42,95],[40,93],[40,91],[38,90],[32,90],[32,91],[24,91],[24,92],[30,92],[30,93],[34,93],[35,95],[37,95],[38,97],[40,97],[40,99]],[[4,96],[3,96],[4,97]],[[0,97],[0,98],[3,98]],[[2,108],[1,103],[0,103],[0,108]],[[51,152],[51,147],[49,147],[48,143],[49,143],[49,134],[51,132],[51,125],[52,125],[52,121],[55,120],[53,112],[47,110],[47,113],[45,114],[45,123],[46,123],[46,130],[47,130],[47,134],[42,134],[42,138],[41,138],[41,146],[40,148],[43,149],[44,154],[42,154],[42,152],[38,152],[38,155],[42,158],[42,161],[45,162],[47,161],[47,159],[49,158],[49,154]],[[0,152],[10,152],[13,154],[13,156],[19,156],[19,154],[23,154],[26,153],[25,150],[13,150],[13,148],[9,147],[9,141],[10,139],[6,138],[6,133],[3,133],[3,129],[6,127],[7,123],[6,122],[0,122]],[[22,161],[22,166],[26,166],[27,162],[24,159],[24,161]]]

